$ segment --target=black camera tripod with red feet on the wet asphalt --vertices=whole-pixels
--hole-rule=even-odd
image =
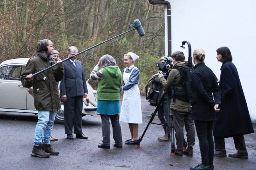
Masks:
[[[153,122],[153,119],[154,119],[154,117],[155,117],[155,115],[156,115],[156,113],[157,113],[157,111],[158,111],[158,108],[160,107],[160,105],[162,104],[162,102],[163,102],[163,100],[165,99],[165,95],[167,94],[167,103],[168,103],[168,115],[170,116],[170,118],[169,118],[169,123],[165,123],[165,124],[161,124],[161,123],[154,123]],[[157,107],[155,108],[155,111],[151,114],[151,116],[150,116],[150,120],[149,120],[149,122],[148,122],[148,124],[147,124],[147,126],[146,126],[146,128],[145,128],[145,130],[143,131],[143,133],[142,133],[142,135],[139,137],[139,139],[138,139],[138,143],[137,143],[137,147],[141,147],[140,146],[140,143],[141,143],[141,141],[142,141],[142,139],[143,139],[143,137],[144,137],[144,135],[145,135],[145,133],[146,133],[146,131],[147,131],[147,129],[149,128],[149,125],[150,124],[155,124],[155,125],[162,125],[162,126],[170,126],[171,127],[171,134],[170,134],[170,138],[171,138],[171,155],[175,155],[175,139],[174,139],[174,126],[173,126],[173,115],[171,114],[170,115],[170,107],[169,107],[169,100],[170,100],[170,98],[169,98],[169,92],[167,92],[167,91],[165,91],[164,93],[163,93],[163,95],[162,95],[162,97],[161,97],[161,99],[160,99],[160,101],[159,101],[159,103],[157,104]],[[185,146],[184,146],[185,147]]]

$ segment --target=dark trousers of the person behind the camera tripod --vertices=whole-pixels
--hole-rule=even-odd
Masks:
[[[162,104],[158,108],[157,116],[161,122],[161,124],[168,124],[168,126],[163,126],[163,129],[165,130],[165,134],[171,134],[171,126],[170,126],[170,104],[171,99],[165,99],[163,100]]]

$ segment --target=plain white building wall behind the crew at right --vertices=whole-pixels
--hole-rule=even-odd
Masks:
[[[251,119],[256,122],[256,1],[168,1],[171,4],[172,52],[183,51],[187,57],[187,44],[185,49],[180,48],[185,40],[191,43],[192,53],[197,47],[203,48],[206,65],[219,78],[222,63],[217,62],[216,49],[229,47]],[[167,23],[167,17],[165,21]],[[167,43],[167,30],[165,35]]]

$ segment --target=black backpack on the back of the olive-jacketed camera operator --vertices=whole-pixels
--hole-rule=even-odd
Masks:
[[[189,102],[191,96],[191,88],[190,88],[190,80],[191,80],[191,73],[193,71],[193,67],[175,67],[181,74],[181,78],[178,83],[174,83],[171,87],[171,96],[173,98],[173,102],[176,102],[175,99],[179,99],[184,102]],[[181,84],[182,89],[177,89],[177,86]]]

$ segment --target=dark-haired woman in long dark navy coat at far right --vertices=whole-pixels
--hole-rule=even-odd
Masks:
[[[217,114],[214,122],[214,156],[226,157],[224,138],[233,137],[235,154],[230,157],[248,159],[245,147],[244,134],[254,133],[251,124],[250,114],[247,108],[245,95],[238,76],[237,68],[231,62],[232,55],[227,47],[220,47],[217,50],[217,60],[222,62],[221,78],[221,111]]]

